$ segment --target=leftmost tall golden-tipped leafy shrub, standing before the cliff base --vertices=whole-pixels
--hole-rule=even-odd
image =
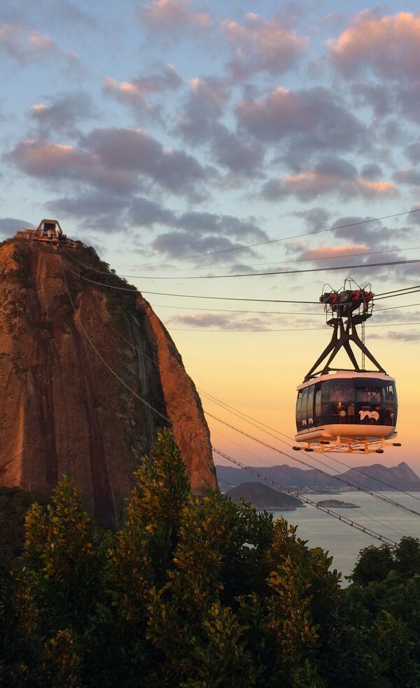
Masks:
[[[68,477],[46,512],[39,504],[30,507],[25,526],[23,573],[40,633],[83,631],[101,590],[102,557],[92,519]]]

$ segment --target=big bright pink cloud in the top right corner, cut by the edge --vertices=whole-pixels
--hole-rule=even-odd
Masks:
[[[370,67],[380,76],[419,77],[420,15],[400,12],[377,18],[357,15],[353,25],[335,40],[327,41],[330,59],[349,73]]]

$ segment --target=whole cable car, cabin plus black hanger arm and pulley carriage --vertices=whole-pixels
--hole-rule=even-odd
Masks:
[[[370,285],[350,289],[351,282],[348,279],[339,291],[323,290],[321,295],[332,337],[297,387],[295,439],[304,446],[295,446],[295,450],[367,454],[383,453],[385,446],[400,446],[388,441],[396,436],[395,380],[364,342],[365,322],[372,316],[373,294],[367,291]],[[361,326],[361,338],[357,326]],[[361,353],[360,365],[351,345],[358,349],[359,357]],[[350,359],[350,369],[332,367],[342,350]],[[366,358],[374,370],[365,368]]]

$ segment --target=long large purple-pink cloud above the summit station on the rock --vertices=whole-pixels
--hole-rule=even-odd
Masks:
[[[214,170],[193,156],[164,149],[141,129],[97,128],[81,137],[78,147],[29,139],[3,159],[38,179],[71,180],[118,193],[158,184],[195,200],[202,198],[202,183],[214,177]]]

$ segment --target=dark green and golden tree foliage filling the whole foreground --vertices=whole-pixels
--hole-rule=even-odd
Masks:
[[[125,522],[99,530],[64,477],[0,566],[0,683],[186,688],[419,684],[420,543],[360,553],[348,589],[296,528],[190,493],[166,429]]]

